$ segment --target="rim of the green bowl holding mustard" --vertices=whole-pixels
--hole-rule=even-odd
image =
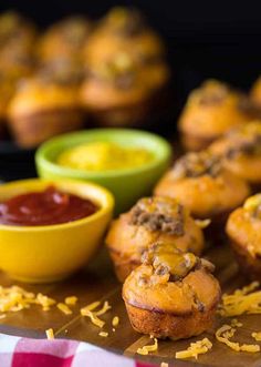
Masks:
[[[146,162],[142,164],[138,167],[129,167],[129,169],[123,169],[123,170],[108,170],[108,171],[87,171],[87,170],[77,170],[77,169],[71,169],[62,166],[55,162],[52,162],[46,157],[48,152],[55,146],[55,144],[65,143],[69,139],[74,137],[84,137],[84,135],[87,136],[94,136],[95,139],[100,135],[107,134],[108,137],[117,136],[117,135],[128,135],[135,137],[144,137],[147,140],[153,141],[160,147],[160,154],[154,155],[152,161]],[[84,142],[82,142],[84,143]],[[79,143],[81,144],[81,143]],[[79,145],[79,144],[75,144]],[[129,144],[132,145],[132,144]],[[73,146],[73,144],[72,144]],[[152,151],[153,150],[149,150]],[[79,132],[62,134],[55,137],[52,137],[51,140],[46,141],[45,143],[41,144],[40,147],[36,150],[35,153],[35,164],[39,169],[40,166],[46,167],[51,172],[56,172],[59,174],[62,174],[64,176],[71,176],[75,179],[82,179],[82,180],[92,180],[92,179],[108,179],[108,177],[122,177],[122,176],[128,176],[133,174],[138,173],[145,173],[147,171],[150,171],[158,165],[160,165],[165,161],[170,162],[170,157],[173,154],[171,145],[167,142],[166,139],[161,137],[160,135],[144,131],[144,130],[137,130],[137,129],[117,129],[117,128],[103,128],[103,129],[90,129],[90,130],[82,130]]]

